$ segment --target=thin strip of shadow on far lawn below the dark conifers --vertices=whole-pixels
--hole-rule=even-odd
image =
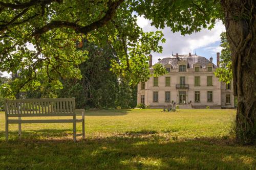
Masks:
[[[86,116],[122,116],[130,111],[131,109],[90,110],[86,111]]]

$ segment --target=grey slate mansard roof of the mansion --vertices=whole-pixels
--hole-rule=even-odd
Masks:
[[[208,63],[210,63],[210,61],[208,59],[206,59],[205,57],[201,57],[201,56],[197,56],[197,55],[179,55],[179,60],[185,60],[188,61],[188,68],[193,68],[193,65],[196,63],[201,64],[202,68],[206,68],[206,65]],[[176,58],[176,55],[170,56],[170,57],[166,57],[163,58],[162,60],[160,60],[158,63],[160,64],[170,64],[172,65],[172,68],[177,68],[177,61],[178,59]],[[214,68],[217,68],[217,65],[214,64]]]

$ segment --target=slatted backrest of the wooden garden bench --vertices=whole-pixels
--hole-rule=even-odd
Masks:
[[[75,98],[5,100],[8,117],[70,116],[75,114]]]

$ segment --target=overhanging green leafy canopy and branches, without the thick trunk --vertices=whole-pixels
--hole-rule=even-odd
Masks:
[[[9,94],[49,84],[61,88],[59,78],[80,79],[78,65],[88,56],[79,50],[83,38],[112,48],[116,74],[134,84],[146,81],[148,55],[161,53],[158,43],[165,40],[160,31],[144,33],[137,25],[138,15],[157,28],[168,26],[181,34],[210,29],[221,17],[218,2],[190,0],[1,1],[0,14],[0,71],[18,74],[6,87]]]

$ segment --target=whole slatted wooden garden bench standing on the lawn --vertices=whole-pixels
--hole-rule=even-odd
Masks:
[[[82,118],[76,119],[76,113],[81,113]],[[22,134],[22,124],[25,123],[73,123],[73,139],[77,136],[85,139],[84,109],[75,109],[75,98],[58,99],[17,99],[5,100],[5,135],[8,141],[8,125],[18,124],[18,135]],[[73,116],[72,119],[33,119],[23,120],[22,117],[34,116]],[[18,119],[9,119],[18,117]],[[76,134],[76,123],[82,123],[82,133]]]

